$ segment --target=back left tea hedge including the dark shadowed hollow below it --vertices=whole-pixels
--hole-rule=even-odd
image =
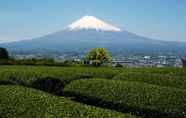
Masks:
[[[113,68],[0,66],[0,85],[22,85],[55,95],[63,95],[63,87],[72,80],[103,77],[113,78],[119,73]]]

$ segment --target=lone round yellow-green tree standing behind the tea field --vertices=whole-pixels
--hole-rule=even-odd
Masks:
[[[104,62],[110,62],[112,57],[105,48],[92,48],[86,54],[86,59],[91,61],[93,66],[100,66]]]

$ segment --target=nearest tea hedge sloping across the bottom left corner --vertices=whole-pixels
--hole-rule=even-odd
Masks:
[[[0,86],[1,118],[135,118],[19,86]]]

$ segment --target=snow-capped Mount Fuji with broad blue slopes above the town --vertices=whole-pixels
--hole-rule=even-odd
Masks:
[[[84,53],[104,47],[118,54],[184,54],[186,43],[138,36],[94,16],[84,16],[61,31],[43,37],[0,44],[11,51],[53,50]]]

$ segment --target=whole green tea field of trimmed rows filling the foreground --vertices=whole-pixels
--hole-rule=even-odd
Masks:
[[[186,68],[0,66],[0,118],[186,118]]]

